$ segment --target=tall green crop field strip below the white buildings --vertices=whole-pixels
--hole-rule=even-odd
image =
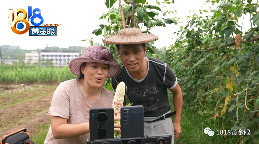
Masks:
[[[0,65],[0,82],[52,82],[77,78],[68,67]]]

